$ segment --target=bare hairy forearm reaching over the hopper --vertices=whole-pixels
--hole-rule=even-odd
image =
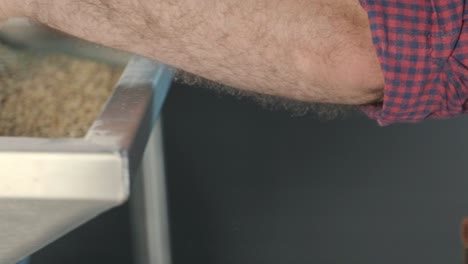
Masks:
[[[1,18],[18,16],[248,92],[382,99],[358,0],[1,0]]]

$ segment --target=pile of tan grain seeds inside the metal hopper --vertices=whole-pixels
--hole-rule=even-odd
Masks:
[[[83,137],[122,70],[0,45],[0,136]]]

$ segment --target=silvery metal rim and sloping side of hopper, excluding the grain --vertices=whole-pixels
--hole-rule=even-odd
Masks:
[[[0,263],[127,200],[171,79],[172,69],[133,57],[84,138],[0,137]]]

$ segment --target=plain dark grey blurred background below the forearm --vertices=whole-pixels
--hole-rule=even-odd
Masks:
[[[175,84],[163,118],[173,263],[461,263],[467,124],[320,121]],[[32,264],[132,254],[127,204]]]

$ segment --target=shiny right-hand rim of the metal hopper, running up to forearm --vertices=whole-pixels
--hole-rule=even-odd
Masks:
[[[144,57],[134,57],[104,111],[88,131],[86,140],[101,146],[117,146],[128,158],[129,172],[135,172],[172,76],[172,68]]]

